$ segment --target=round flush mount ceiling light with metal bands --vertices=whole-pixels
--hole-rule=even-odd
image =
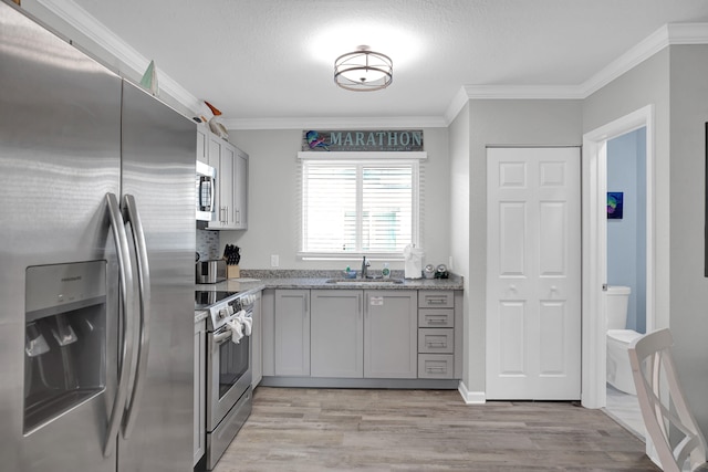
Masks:
[[[354,92],[373,92],[386,88],[394,78],[394,63],[385,54],[368,46],[342,54],[334,61],[334,82]]]

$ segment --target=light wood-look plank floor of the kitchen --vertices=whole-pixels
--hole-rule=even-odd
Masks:
[[[456,390],[259,387],[215,472],[658,471],[601,410]]]

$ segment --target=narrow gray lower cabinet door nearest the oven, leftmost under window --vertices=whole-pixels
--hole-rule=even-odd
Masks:
[[[310,376],[310,291],[277,290],[274,375]]]

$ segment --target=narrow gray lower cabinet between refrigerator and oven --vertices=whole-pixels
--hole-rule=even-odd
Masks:
[[[206,451],[207,440],[207,321],[195,323],[194,465]]]

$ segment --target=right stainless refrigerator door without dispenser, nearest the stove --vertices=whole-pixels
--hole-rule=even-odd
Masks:
[[[196,146],[194,122],[124,83],[123,202],[134,199],[143,223],[150,300],[148,356],[118,443],[121,471],[192,465]]]

